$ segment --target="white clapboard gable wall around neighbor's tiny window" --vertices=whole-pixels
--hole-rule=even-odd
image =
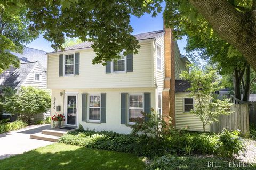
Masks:
[[[40,80],[36,81],[35,80],[35,73],[40,74]],[[34,69],[30,71],[28,74],[25,82],[22,84],[22,86],[33,86],[33,87],[38,87],[41,89],[46,89],[47,85],[47,78],[46,74],[43,70],[43,68],[39,65],[37,62]]]

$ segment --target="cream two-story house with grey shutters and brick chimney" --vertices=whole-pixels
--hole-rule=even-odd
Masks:
[[[87,42],[47,53],[52,115],[65,114],[66,126],[130,133],[132,118],[154,108],[163,116],[170,115],[172,123],[181,128],[182,113],[175,118],[175,108],[178,111],[183,104],[177,100],[175,107],[175,79],[186,70],[188,59],[180,55],[171,29],[135,37],[141,46],[139,53],[106,66],[92,64],[95,53]]]

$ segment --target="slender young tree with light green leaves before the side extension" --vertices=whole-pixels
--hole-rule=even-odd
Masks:
[[[191,85],[188,89],[189,96],[195,99],[194,110],[191,113],[196,114],[202,121],[205,131],[205,125],[218,122],[219,115],[233,113],[230,111],[232,103],[228,99],[219,100],[215,94],[223,88],[216,70],[210,66],[200,69],[193,64],[188,67],[190,67],[189,72],[182,71],[181,78],[188,80]]]

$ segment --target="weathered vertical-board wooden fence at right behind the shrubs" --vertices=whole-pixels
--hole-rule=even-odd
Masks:
[[[249,104],[234,104],[231,110],[234,113],[230,115],[220,115],[219,122],[214,122],[210,125],[210,132],[221,132],[222,128],[229,131],[239,129],[242,133],[249,132]]]

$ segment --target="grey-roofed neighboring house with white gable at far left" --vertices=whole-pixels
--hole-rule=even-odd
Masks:
[[[20,59],[20,67],[12,66],[0,75],[0,86],[19,89],[34,86],[46,89],[47,52],[25,47],[23,54],[12,53]]]

